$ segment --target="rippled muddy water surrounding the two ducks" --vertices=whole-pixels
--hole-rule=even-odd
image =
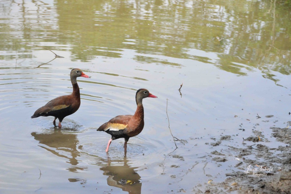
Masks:
[[[254,144],[244,141],[250,136],[285,146],[270,129],[290,119],[284,1],[0,5],[0,193],[204,192],[209,181],[249,165],[238,169],[242,156],[230,146],[246,148]],[[61,130],[52,117],[31,119],[50,99],[72,92],[72,68],[91,76],[78,78],[79,110]],[[96,129],[133,114],[139,88],[158,96],[143,100],[144,130],[130,138],[126,155],[124,140],[114,140],[107,157],[110,137]]]

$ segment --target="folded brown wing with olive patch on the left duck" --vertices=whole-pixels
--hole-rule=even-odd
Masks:
[[[65,109],[73,104],[73,99],[71,95],[60,96],[55,99],[49,101],[45,106],[40,107],[35,111],[31,118],[36,118],[39,116],[45,116],[52,111],[57,111],[61,109]]]

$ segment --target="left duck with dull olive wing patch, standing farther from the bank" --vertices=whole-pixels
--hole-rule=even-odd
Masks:
[[[74,68],[71,70],[70,78],[73,86],[73,92],[70,95],[59,96],[49,101],[45,106],[40,107],[35,111],[31,118],[40,116],[54,116],[53,124],[56,126],[56,119],[58,118],[58,127],[61,128],[61,122],[66,116],[76,112],[81,104],[80,89],[77,83],[77,77],[90,78],[84,74],[81,69]]]

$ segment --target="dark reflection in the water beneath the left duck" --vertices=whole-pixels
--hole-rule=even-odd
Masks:
[[[68,163],[72,165],[67,169],[70,172],[87,169],[87,167],[77,166],[79,164],[77,157],[80,157],[80,152],[77,150],[79,140],[76,134],[71,131],[54,130],[44,133],[32,132],[31,135],[39,141],[39,144],[43,144],[39,145],[40,147],[61,158],[67,158]]]

